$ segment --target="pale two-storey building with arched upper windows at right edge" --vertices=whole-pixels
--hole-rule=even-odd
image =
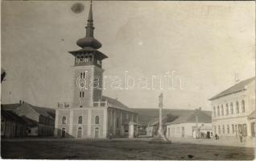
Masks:
[[[255,77],[240,81],[209,99],[213,132],[221,137],[255,136]]]

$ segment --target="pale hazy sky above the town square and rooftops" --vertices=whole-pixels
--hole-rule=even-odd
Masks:
[[[76,40],[85,36],[89,2],[3,1],[2,103],[56,108],[72,101]],[[94,37],[108,56],[105,76],[164,76],[175,89],[105,89],[131,108],[211,109],[209,98],[255,75],[254,2],[93,2]],[[180,80],[182,89],[180,89]]]

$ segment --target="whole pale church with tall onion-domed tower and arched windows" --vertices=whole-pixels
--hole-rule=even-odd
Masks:
[[[108,56],[98,51],[101,43],[93,37],[92,2],[87,22],[85,37],[76,41],[81,49],[69,52],[75,60],[72,103],[58,103],[55,136],[133,138],[138,132],[138,114],[117,99],[102,95],[101,62]]]

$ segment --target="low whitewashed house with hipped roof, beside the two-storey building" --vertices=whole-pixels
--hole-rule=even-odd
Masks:
[[[209,138],[213,136],[212,117],[201,109],[182,114],[173,122],[167,122],[166,125],[167,138]]]

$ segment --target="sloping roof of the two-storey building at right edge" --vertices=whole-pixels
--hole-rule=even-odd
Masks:
[[[221,93],[218,93],[216,96],[211,97],[209,99],[209,101],[213,101],[219,97],[223,97],[232,93],[237,93],[243,90],[246,90],[246,85],[250,84],[250,82],[255,80],[255,76],[247,79],[245,81],[240,81],[239,83],[237,83],[236,85],[231,86],[229,89],[225,89],[224,91],[222,91]]]

